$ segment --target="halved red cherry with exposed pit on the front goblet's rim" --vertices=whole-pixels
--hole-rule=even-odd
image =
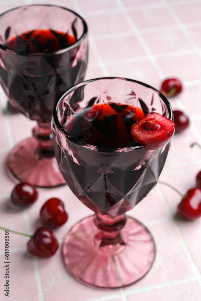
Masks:
[[[132,125],[131,134],[137,143],[155,150],[170,140],[174,129],[174,122],[170,119],[159,113],[147,113]]]

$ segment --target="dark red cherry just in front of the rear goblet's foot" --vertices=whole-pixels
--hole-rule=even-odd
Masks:
[[[33,204],[37,198],[37,188],[25,182],[17,184],[11,193],[11,201],[14,204],[18,204],[20,201],[23,201],[23,205],[30,205]]]

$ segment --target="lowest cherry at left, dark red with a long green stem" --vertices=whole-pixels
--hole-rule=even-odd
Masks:
[[[55,254],[58,249],[58,241],[53,232],[46,228],[38,228],[27,242],[27,250],[30,254],[42,258],[48,258]]]

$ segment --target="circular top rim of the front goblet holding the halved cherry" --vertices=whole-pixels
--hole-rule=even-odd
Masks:
[[[122,80],[126,80],[126,81],[129,81],[129,82],[135,82],[135,83],[138,83],[140,85],[143,85],[144,87],[146,88],[151,88],[152,90],[156,91],[156,92],[159,92],[159,96],[160,98],[162,99],[162,101],[165,103],[167,109],[168,109],[168,113],[169,113],[169,120],[173,121],[173,110],[172,110],[172,107],[168,101],[168,99],[159,91],[157,90],[156,88],[146,84],[146,83],[143,83],[143,82],[140,82],[140,81],[137,81],[137,80],[134,80],[134,79],[128,79],[128,78],[124,78],[124,77],[99,77],[99,78],[96,78],[96,79],[88,79],[88,80],[85,80],[83,82],[79,82],[78,84],[72,86],[71,88],[69,88],[66,92],[64,92],[64,94],[62,94],[58,100],[56,101],[55,105],[54,105],[54,108],[52,110],[52,118],[54,119],[54,122],[55,122],[55,125],[57,127],[57,129],[61,132],[64,133],[64,135],[66,136],[66,138],[68,138],[68,140],[70,140],[71,142],[73,142],[74,144],[78,144],[79,146],[85,146],[85,147],[90,147],[90,148],[93,148],[94,150],[96,151],[102,151],[102,152],[115,152],[115,151],[131,151],[131,150],[138,150],[138,149],[142,149],[142,148],[145,148],[145,146],[143,145],[137,145],[137,146],[132,146],[132,147],[99,147],[99,146],[95,146],[95,145],[92,145],[92,144],[88,144],[88,143],[85,143],[83,141],[80,141],[78,140],[77,138],[73,137],[70,133],[68,133],[64,127],[61,125],[61,123],[59,122],[58,120],[58,116],[57,116],[57,111],[58,111],[58,106],[59,104],[61,103],[61,101],[64,99],[64,97],[70,93],[71,91],[73,91],[75,88],[79,87],[79,86],[82,86],[82,85],[85,85],[89,82],[95,82],[97,80],[104,80],[104,79],[122,79]]]

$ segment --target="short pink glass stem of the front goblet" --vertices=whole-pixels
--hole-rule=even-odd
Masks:
[[[126,223],[125,215],[119,215],[112,219],[108,214],[101,215],[98,213],[94,217],[94,222],[99,229],[96,238],[101,240],[100,247],[116,244],[124,245],[120,231]]]

